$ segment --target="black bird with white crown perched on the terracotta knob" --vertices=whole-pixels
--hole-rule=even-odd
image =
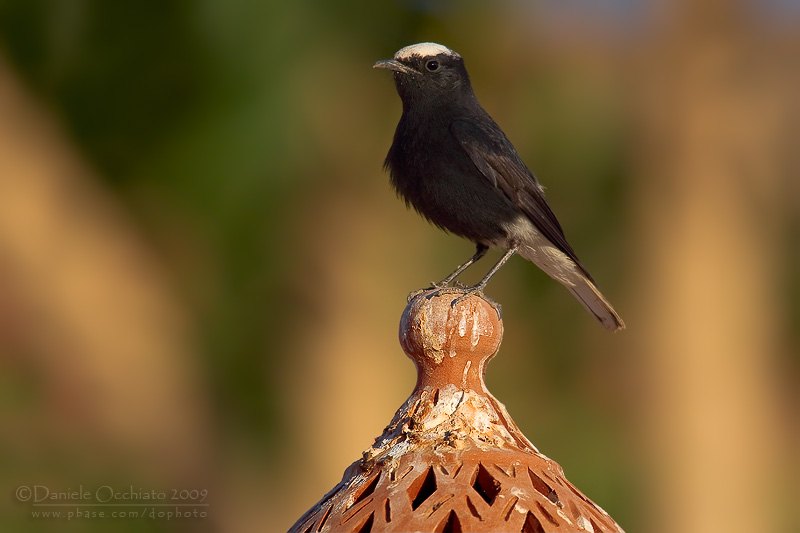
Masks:
[[[399,50],[391,70],[403,114],[386,156],[406,205],[466,237],[475,254],[435,287],[444,289],[489,248],[506,253],[468,290],[482,292],[515,253],[564,285],[607,329],[625,327],[564,237],[544,191],[500,127],[478,103],[460,55],[436,43]]]

